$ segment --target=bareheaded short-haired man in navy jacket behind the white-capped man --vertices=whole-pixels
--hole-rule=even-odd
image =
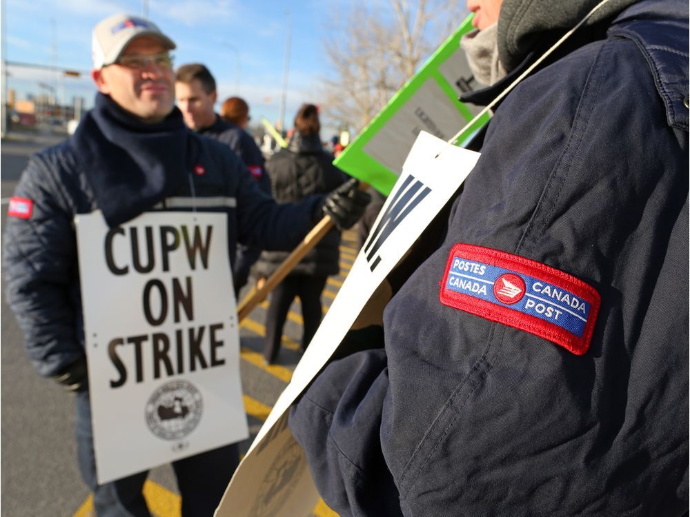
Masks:
[[[175,99],[187,127],[227,144],[242,159],[261,190],[270,195],[270,180],[264,170],[262,152],[250,134],[244,130],[246,123],[239,125],[218,116],[213,108],[217,98],[215,79],[206,66],[201,63],[190,63],[177,69]],[[247,115],[246,121],[248,120]],[[249,270],[260,253],[261,249],[258,247],[244,244],[237,246],[233,268],[235,298],[239,297],[239,291],[246,285]]]

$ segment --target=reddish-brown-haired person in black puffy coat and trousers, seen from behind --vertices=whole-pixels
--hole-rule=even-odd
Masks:
[[[277,201],[295,203],[312,194],[330,192],[345,181],[344,174],[333,165],[333,156],[324,151],[320,130],[318,108],[302,105],[295,116],[295,131],[288,147],[266,163]],[[302,349],[309,345],[321,322],[321,293],[328,275],[340,270],[339,246],[340,232],[333,228],[273,290],[266,314],[266,363],[275,362],[283,325],[295,296],[302,302]],[[256,266],[257,275],[270,276],[287,256],[286,252],[263,252]]]

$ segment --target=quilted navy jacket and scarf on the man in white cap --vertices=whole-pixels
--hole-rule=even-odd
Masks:
[[[187,130],[177,108],[145,125],[99,94],[80,126],[32,156],[14,192],[30,214],[9,216],[3,241],[8,302],[43,376],[84,354],[76,214],[100,209],[114,226],[147,210],[224,212],[231,261],[238,242],[290,250],[320,219],[322,196],[277,205],[226,145]]]

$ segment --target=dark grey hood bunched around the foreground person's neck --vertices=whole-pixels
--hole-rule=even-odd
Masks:
[[[609,0],[586,22],[594,25],[638,0]],[[498,55],[509,72],[517,67],[549,32],[573,28],[600,0],[504,0],[498,19]]]

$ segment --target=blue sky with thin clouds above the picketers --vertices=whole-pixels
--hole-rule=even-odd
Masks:
[[[90,69],[90,39],[95,23],[115,12],[141,15],[144,10],[141,0],[4,3],[7,61],[55,64],[76,70]],[[331,28],[329,20],[346,8],[344,0],[149,0],[148,17],[177,43],[176,65],[205,63],[217,80],[219,99],[239,93],[250,104],[254,120],[266,116],[275,123],[283,87],[289,11],[288,125],[301,103],[319,101],[319,83],[328,70],[322,41]],[[77,93],[91,103],[95,92],[87,78],[8,70],[8,88],[15,88],[19,98],[27,88],[34,93],[45,92],[39,82],[53,85],[58,97],[66,102]]]

